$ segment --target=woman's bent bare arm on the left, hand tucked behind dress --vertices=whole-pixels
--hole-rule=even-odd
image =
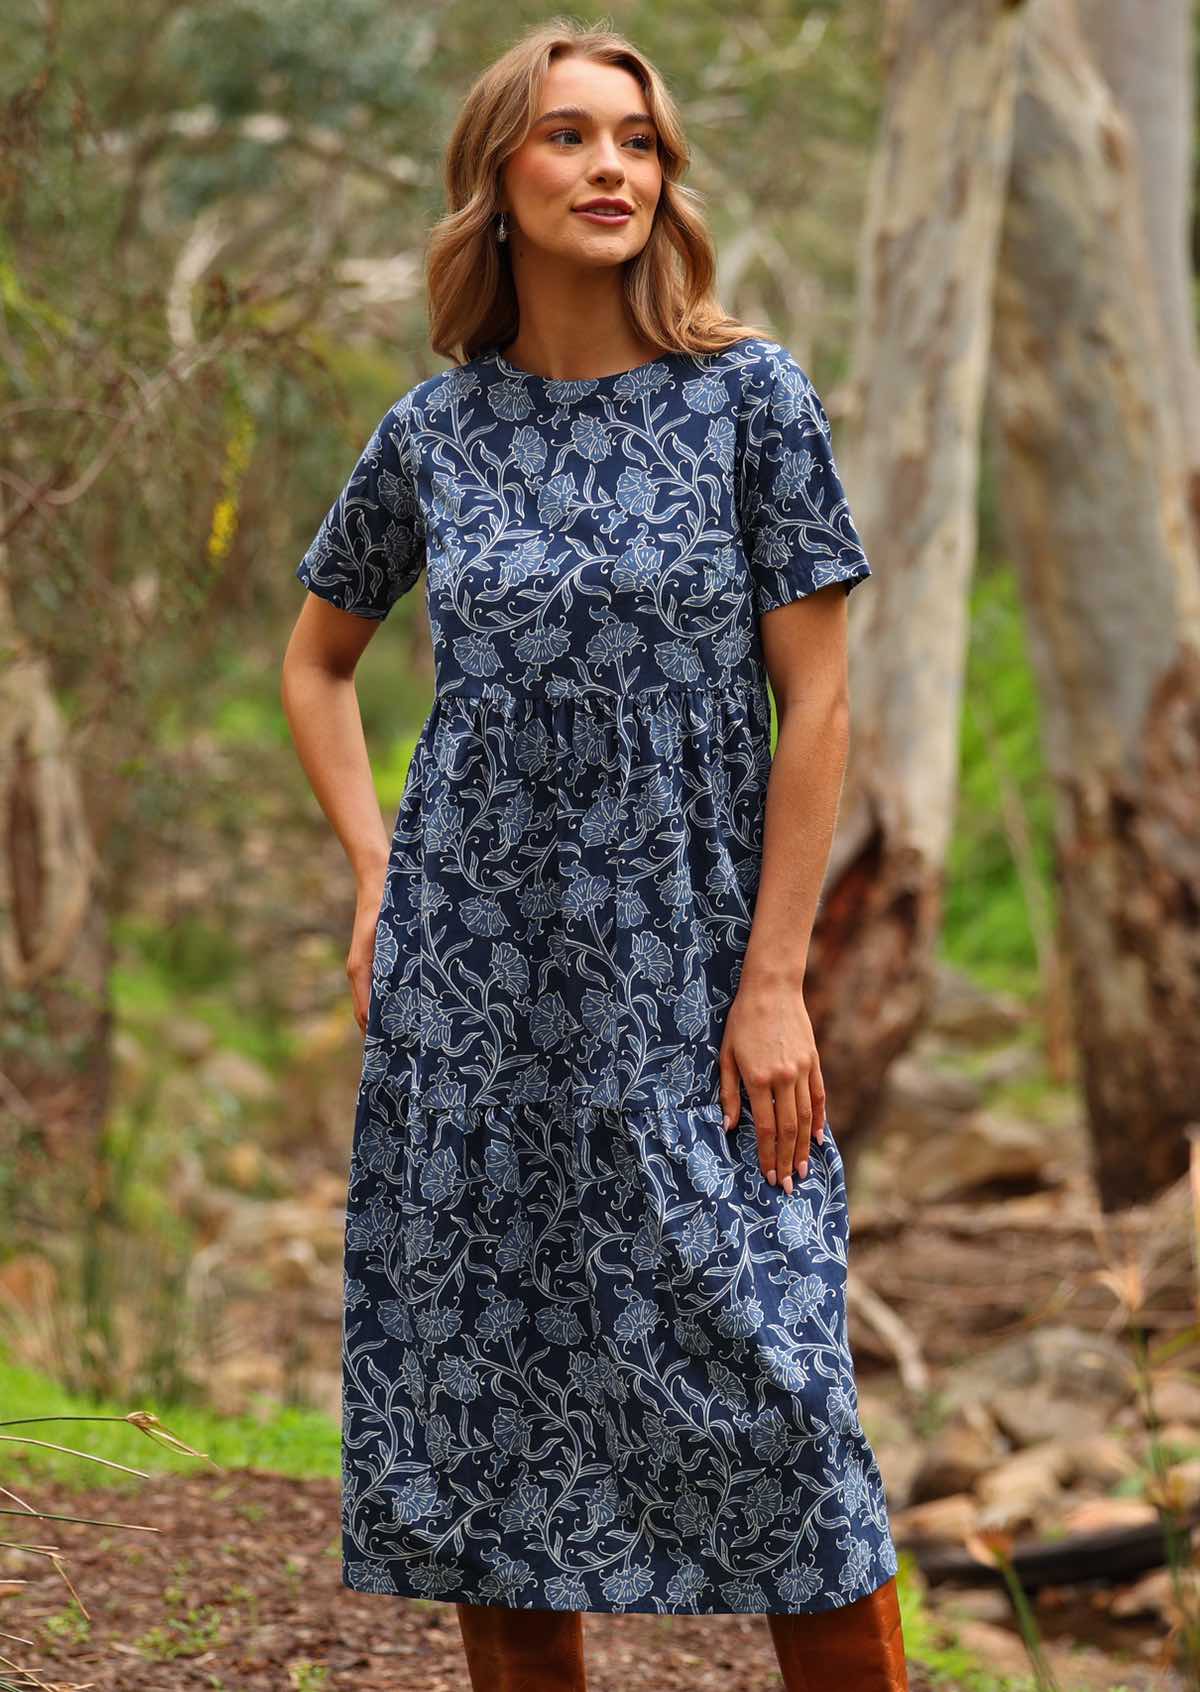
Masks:
[[[345,973],[364,1034],[391,843],[371,775],[354,670],[377,628],[377,619],[340,611],[310,592],[281,675],[283,709],[300,761],[354,871],[357,902]]]

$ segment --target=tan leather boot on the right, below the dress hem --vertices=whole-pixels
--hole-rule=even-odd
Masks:
[[[909,1692],[895,1575],[812,1616],[768,1616],[785,1692]]]

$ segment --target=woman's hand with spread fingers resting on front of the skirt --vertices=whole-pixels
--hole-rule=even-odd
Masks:
[[[721,1108],[726,1130],[741,1117],[741,1091],[750,1096],[758,1162],[772,1183],[782,1176],[792,1191],[792,1171],[809,1173],[809,1142],[816,1123],[824,1144],[824,1083],[812,1039],[812,1022],[801,986],[743,975],[721,1039]]]

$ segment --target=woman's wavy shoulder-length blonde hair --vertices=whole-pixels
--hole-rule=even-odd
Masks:
[[[650,237],[625,266],[625,303],[640,338],[662,352],[719,352],[758,325],[729,316],[716,296],[716,247],[701,196],[680,181],[691,162],[679,108],[645,54],[608,24],[553,17],[526,30],[465,95],[445,149],[447,213],[425,259],[430,345],[467,362],[520,327],[508,247],[496,240],[504,161],[530,132],[550,64],[560,56],[618,64],[636,76],[658,129],[662,193]]]

